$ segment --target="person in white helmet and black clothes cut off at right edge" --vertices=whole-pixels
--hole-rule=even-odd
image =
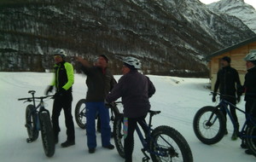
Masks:
[[[241,92],[245,93],[246,113],[250,113],[256,119],[256,50],[251,50],[244,60],[246,61],[247,73]],[[247,148],[244,141],[241,142],[241,148]],[[252,154],[250,150],[246,150],[245,153]]]

